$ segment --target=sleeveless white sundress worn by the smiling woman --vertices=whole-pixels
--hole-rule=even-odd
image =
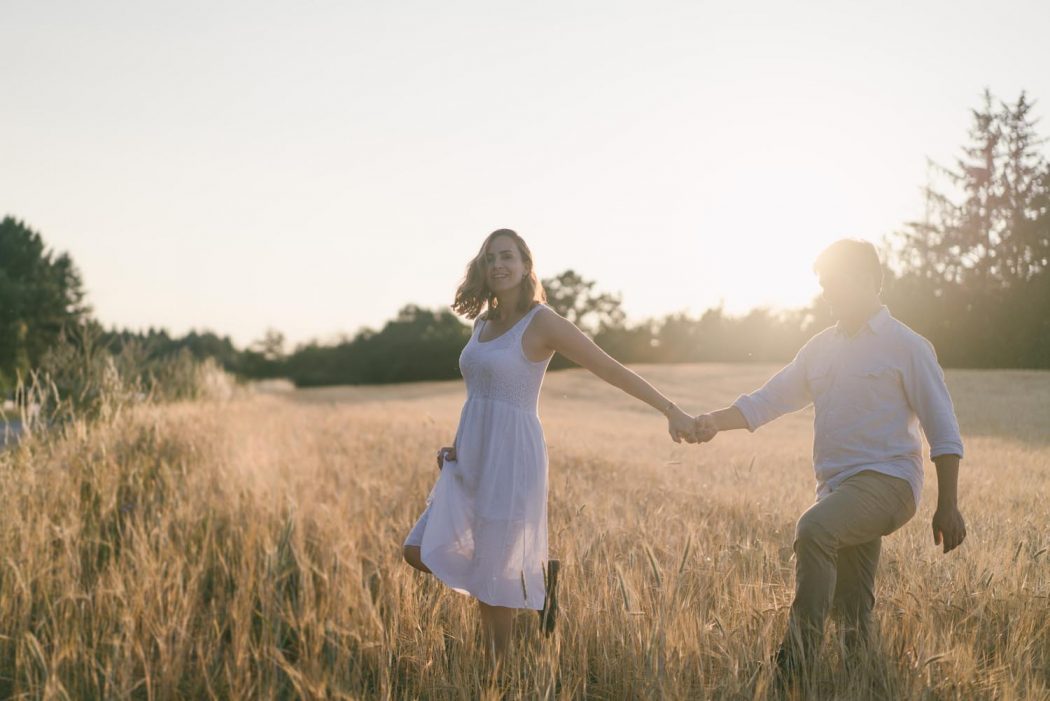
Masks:
[[[458,592],[489,606],[541,610],[547,561],[547,446],[537,405],[550,359],[522,349],[537,304],[503,335],[477,325],[460,354],[466,403],[445,463],[405,545]]]

